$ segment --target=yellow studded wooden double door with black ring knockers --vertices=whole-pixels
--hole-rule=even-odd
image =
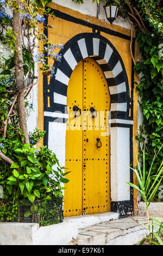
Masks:
[[[73,106],[80,110],[74,112]],[[71,75],[67,108],[65,167],[71,173],[64,216],[110,211],[110,94],[101,67],[90,57]]]

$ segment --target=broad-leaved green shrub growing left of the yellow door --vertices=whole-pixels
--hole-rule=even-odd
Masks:
[[[34,135],[42,136],[39,132],[35,131]],[[35,142],[38,141],[38,137],[31,138],[35,139]],[[69,172],[64,173],[65,167],[60,166],[52,150],[46,146],[37,150],[31,147],[32,144],[21,143],[17,136],[2,137],[0,145],[2,152],[14,161],[10,165],[0,160],[0,185],[3,186],[1,221],[14,221],[20,202],[31,204],[37,199],[51,200],[62,197],[65,187],[61,184],[69,181],[65,178]]]

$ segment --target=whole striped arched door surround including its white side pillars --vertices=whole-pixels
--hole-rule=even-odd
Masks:
[[[133,214],[133,188],[126,181],[133,182],[133,99],[129,94],[129,83],[122,58],[111,42],[99,33],[82,33],[74,36],[60,51],[61,62],[55,65],[55,76],[48,85],[43,78],[44,116],[46,136],[44,144],[53,148],[62,166],[65,164],[65,124],[67,121],[67,86],[78,62],[92,57],[101,65],[108,82],[111,111],[110,123],[110,182],[111,211],[120,216]],[[47,89],[51,89],[48,93]],[[50,107],[48,107],[48,97]],[[56,132],[56,126],[60,129]],[[53,145],[49,134],[53,136]],[[62,134],[61,134],[62,133]],[[58,140],[58,136],[62,138]]]

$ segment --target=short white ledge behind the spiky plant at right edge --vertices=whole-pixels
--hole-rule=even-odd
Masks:
[[[163,202],[151,203],[148,207],[149,216],[160,216],[163,217]],[[138,215],[145,216],[146,213],[146,204],[145,202],[138,203]]]

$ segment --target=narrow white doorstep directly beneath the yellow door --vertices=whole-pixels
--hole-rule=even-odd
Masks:
[[[95,225],[101,222],[117,220],[119,214],[117,212],[104,212],[103,214],[89,214],[66,217],[64,222],[76,223],[78,228],[84,228],[90,225]]]

